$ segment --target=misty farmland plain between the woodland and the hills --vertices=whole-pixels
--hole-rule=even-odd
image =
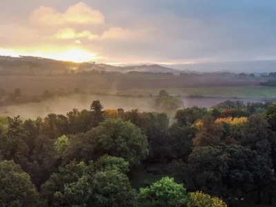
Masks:
[[[50,112],[66,115],[72,108],[89,108],[92,100],[99,99],[105,108],[124,108],[152,111],[154,96],[162,89],[170,94],[181,95],[185,107],[210,107],[227,99],[256,102],[275,99],[276,87],[256,85],[254,80],[228,77],[159,77],[132,75],[79,76],[0,76],[0,88],[13,92],[20,88],[23,95],[41,95],[44,90],[53,92],[61,87],[66,92],[75,88],[93,95],[68,95],[55,97],[40,103],[24,103],[19,106],[1,106],[0,115],[22,118],[45,117]],[[150,97],[150,94],[152,97]],[[112,96],[109,96],[112,95]],[[118,96],[120,95],[120,96]],[[121,97],[125,95],[125,97]],[[128,96],[135,97],[128,97]],[[141,96],[139,98],[139,96]],[[190,98],[193,96],[193,98]],[[201,98],[204,97],[204,98]]]

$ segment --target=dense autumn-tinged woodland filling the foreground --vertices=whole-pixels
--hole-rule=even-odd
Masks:
[[[165,90],[155,104],[181,106]],[[276,104],[184,108],[170,124],[166,112],[104,109],[96,100],[67,115],[1,117],[0,152],[1,206],[219,207],[252,192],[272,204]],[[133,188],[133,175],[153,164],[170,176]]]

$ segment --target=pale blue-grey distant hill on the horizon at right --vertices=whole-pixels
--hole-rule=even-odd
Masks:
[[[165,66],[165,65],[163,65]],[[265,61],[239,61],[239,62],[224,62],[224,63],[193,63],[170,65],[171,68],[184,71],[199,71],[199,72],[275,72],[276,60]]]

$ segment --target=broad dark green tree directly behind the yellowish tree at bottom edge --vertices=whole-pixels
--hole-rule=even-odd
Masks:
[[[173,161],[170,170],[188,190],[202,190],[210,195],[222,196],[225,195],[224,177],[228,174],[229,159],[221,148],[194,148],[188,157],[188,164]]]

